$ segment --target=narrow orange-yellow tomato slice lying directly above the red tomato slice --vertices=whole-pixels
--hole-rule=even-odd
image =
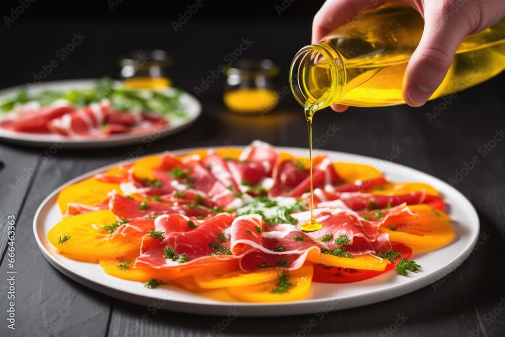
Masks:
[[[379,259],[371,255],[355,256],[354,259],[333,256],[329,254],[321,254],[316,250],[309,251],[307,260],[322,263],[333,267],[354,268],[383,271],[388,264],[389,260]]]

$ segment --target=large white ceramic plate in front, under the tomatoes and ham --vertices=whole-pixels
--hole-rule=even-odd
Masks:
[[[298,156],[305,156],[306,149],[278,148]],[[195,149],[175,151],[182,155]],[[452,217],[452,226],[457,235],[453,241],[436,251],[416,253],[413,259],[422,270],[409,277],[389,271],[377,277],[347,284],[314,282],[307,299],[285,303],[220,302],[198,296],[176,286],[164,285],[146,289],[141,282],[128,281],[107,275],[98,264],[74,261],[58,253],[48,242],[46,234],[61,220],[57,204],[58,192],[69,184],[103,172],[115,165],[103,167],[77,177],[55,190],[40,205],[35,214],[33,229],[37,243],[44,256],[68,277],[100,293],[140,305],[156,305],[167,310],[205,315],[229,314],[237,308],[242,316],[281,316],[314,314],[318,310],[334,311],[359,307],[385,301],[411,293],[444,277],[459,266],[471,253],[479,235],[479,218],[472,204],[455,188],[426,173],[399,164],[385,162],[340,152],[325,152],[334,161],[363,163],[383,168],[384,173],[395,182],[418,181],[435,187],[445,199],[445,211]],[[116,164],[117,165],[117,164]],[[437,296],[435,292],[431,296]]]

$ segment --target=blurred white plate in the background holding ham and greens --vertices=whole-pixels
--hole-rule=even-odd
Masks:
[[[39,93],[44,90],[68,90],[85,89],[92,87],[97,80],[95,79],[79,79],[69,81],[48,81],[39,84],[30,93]],[[21,90],[26,90],[25,85],[14,86],[0,90],[0,99],[15,94]],[[170,88],[167,90],[171,90]],[[0,129],[0,140],[5,142],[17,143],[36,148],[48,148],[51,146],[63,147],[65,149],[92,149],[92,148],[111,148],[130,144],[141,143],[159,139],[177,133],[191,124],[193,124],[201,113],[200,102],[187,92],[183,92],[180,97],[182,106],[186,112],[186,116],[177,119],[171,119],[167,127],[151,133],[119,133],[108,136],[107,138],[98,139],[68,139],[57,134],[36,134],[25,132],[12,132],[9,130]]]

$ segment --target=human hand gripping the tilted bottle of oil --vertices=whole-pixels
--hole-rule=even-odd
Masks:
[[[360,10],[370,11],[386,2],[409,4],[425,20],[423,36],[403,76],[403,100],[411,107],[428,101],[467,35],[478,33],[505,16],[503,0],[326,0],[314,17],[312,43],[319,42]],[[331,108],[343,112],[348,107],[334,104]]]

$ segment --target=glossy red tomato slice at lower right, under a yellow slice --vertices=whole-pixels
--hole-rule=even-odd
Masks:
[[[393,263],[388,264],[383,271],[331,267],[325,266],[324,264],[315,264],[313,281],[324,283],[350,283],[366,280],[394,268],[401,258],[410,259],[412,256],[412,249],[405,245],[400,244],[393,246],[393,251],[401,253],[402,256],[396,258]]]

